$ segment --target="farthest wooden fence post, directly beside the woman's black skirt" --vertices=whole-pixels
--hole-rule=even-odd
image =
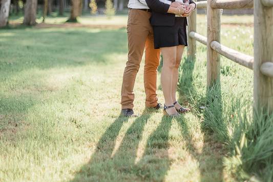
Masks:
[[[187,37],[188,37],[188,47],[187,47],[187,57],[190,60],[195,60],[196,58],[196,40],[190,37],[190,32],[196,32],[196,15],[197,9],[188,17],[188,26],[187,26]]]

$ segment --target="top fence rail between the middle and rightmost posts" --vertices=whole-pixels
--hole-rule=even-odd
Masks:
[[[253,0],[213,0],[212,8],[218,9],[241,9],[253,8]]]

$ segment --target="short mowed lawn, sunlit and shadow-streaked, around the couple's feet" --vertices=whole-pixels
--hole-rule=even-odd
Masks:
[[[253,27],[222,29],[226,46],[252,54]],[[234,181],[224,168],[226,149],[201,129],[203,117],[172,119],[144,108],[143,64],[134,89],[140,116],[119,116],[127,51],[124,28],[0,30],[1,181]],[[204,83],[192,85],[200,97],[205,52],[198,44],[194,74],[181,63],[181,76]],[[233,66],[222,68],[224,84],[251,88],[251,72]],[[179,97],[185,105],[195,100]]]

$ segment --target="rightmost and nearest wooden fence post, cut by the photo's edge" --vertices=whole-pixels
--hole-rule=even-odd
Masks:
[[[254,109],[259,111],[263,107],[263,112],[270,113],[273,112],[273,78],[261,73],[261,65],[273,63],[272,31],[273,7],[254,1]]]

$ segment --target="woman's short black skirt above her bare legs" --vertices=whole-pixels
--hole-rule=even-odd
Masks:
[[[154,26],[155,49],[187,46],[186,17],[175,17],[174,26]]]

